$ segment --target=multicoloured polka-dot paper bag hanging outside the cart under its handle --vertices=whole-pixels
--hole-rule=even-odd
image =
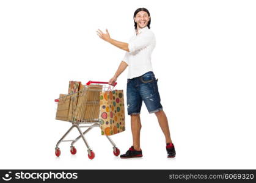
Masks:
[[[114,135],[125,131],[125,103],[123,90],[100,93],[101,135]]]

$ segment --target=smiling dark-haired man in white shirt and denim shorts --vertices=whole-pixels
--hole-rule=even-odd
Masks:
[[[151,64],[151,54],[156,45],[155,35],[150,30],[150,13],[145,8],[139,8],[134,12],[135,32],[129,43],[114,40],[110,37],[108,29],[104,34],[100,29],[97,34],[104,41],[126,51],[123,61],[120,63],[114,77],[109,80],[113,85],[117,77],[128,68],[127,81],[127,109],[131,115],[131,132],[133,134],[133,146],[121,158],[142,157],[140,145],[141,132],[141,106],[144,101],[149,113],[155,113],[158,118],[164,136],[166,137],[167,157],[175,157],[175,148],[170,138],[170,131],[166,114],[160,103],[158,93],[158,80],[155,79]]]

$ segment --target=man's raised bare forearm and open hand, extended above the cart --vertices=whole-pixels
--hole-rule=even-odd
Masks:
[[[117,48],[130,52],[128,48],[128,43],[114,40],[110,37],[108,29],[106,29],[106,32],[107,33],[104,34],[100,29],[97,30],[98,36],[102,38],[104,41],[107,41],[108,43],[111,43],[112,45],[117,46]]]

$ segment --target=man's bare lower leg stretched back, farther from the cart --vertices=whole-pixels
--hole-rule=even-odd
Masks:
[[[158,123],[166,137],[166,143],[172,143],[172,139],[170,139],[170,129],[168,125],[168,120],[166,117],[166,113],[163,110],[160,110],[155,113],[156,117],[158,118]]]

